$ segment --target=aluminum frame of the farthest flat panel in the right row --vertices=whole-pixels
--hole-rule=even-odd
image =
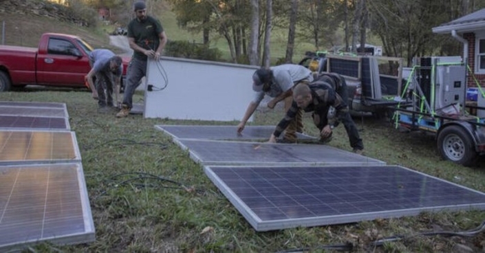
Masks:
[[[200,127],[203,127],[203,128],[217,128],[217,127],[230,127],[230,128],[234,128],[234,133],[235,135],[237,134],[237,126],[231,126],[231,125],[224,125],[224,126],[213,126],[213,125],[199,125]],[[173,139],[185,139],[185,140],[239,140],[239,141],[248,141],[248,140],[269,140],[270,138],[270,135],[272,133],[272,131],[270,131],[270,133],[268,133],[267,136],[265,137],[254,137],[254,138],[251,138],[251,137],[227,137],[227,138],[212,138],[212,137],[200,137],[200,138],[195,138],[195,137],[180,137],[180,136],[177,136],[175,135],[175,133],[172,133],[171,131],[169,131],[168,129],[166,129],[167,127],[181,127],[181,128],[188,128],[188,127],[194,127],[193,125],[155,125],[155,129],[158,129],[164,133],[166,133],[167,135],[170,135]],[[246,126],[245,129],[247,131],[247,129],[252,129],[252,128],[257,128],[257,127],[270,127],[274,130],[274,126]],[[244,134],[243,134],[244,135]],[[304,139],[304,140],[316,140],[315,137],[313,136],[310,136],[310,135],[305,135],[303,133],[297,133],[297,137],[299,139]],[[280,135],[279,139],[282,139],[283,138],[283,135]]]

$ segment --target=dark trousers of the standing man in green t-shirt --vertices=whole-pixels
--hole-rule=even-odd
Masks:
[[[140,80],[147,75],[147,61],[137,58],[131,58],[127,69],[127,81],[125,85],[125,94],[123,94],[122,107],[131,109],[133,107],[133,94],[138,86]]]

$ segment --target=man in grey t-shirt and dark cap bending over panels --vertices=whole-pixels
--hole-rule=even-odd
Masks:
[[[312,72],[309,69],[294,64],[284,64],[270,67],[269,69],[261,68],[252,74],[252,89],[255,91],[255,98],[249,103],[246,113],[241,122],[237,125],[237,132],[241,133],[246,126],[246,122],[259,106],[264,96],[270,96],[272,100],[268,102],[268,107],[273,109],[277,102],[285,100],[285,111],[292,104],[292,87],[299,83],[310,83],[313,80]],[[302,112],[300,112],[293,121],[288,125],[283,137],[283,142],[296,142],[297,131],[303,131],[301,122]]]

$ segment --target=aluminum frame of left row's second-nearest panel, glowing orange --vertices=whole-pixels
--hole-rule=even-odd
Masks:
[[[6,130],[0,130],[6,131]],[[81,162],[81,155],[79,150],[78,140],[74,131],[25,131],[25,130],[8,130],[12,132],[48,132],[48,133],[70,133],[72,138],[72,148],[74,150],[74,157],[72,159],[30,159],[30,160],[0,160],[0,166],[8,165],[21,165],[21,164],[56,164],[56,163],[69,163],[69,162]]]

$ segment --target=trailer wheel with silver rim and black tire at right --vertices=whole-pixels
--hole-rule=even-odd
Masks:
[[[477,157],[473,140],[461,126],[446,126],[440,132],[438,150],[444,159],[464,166],[472,166]]]

